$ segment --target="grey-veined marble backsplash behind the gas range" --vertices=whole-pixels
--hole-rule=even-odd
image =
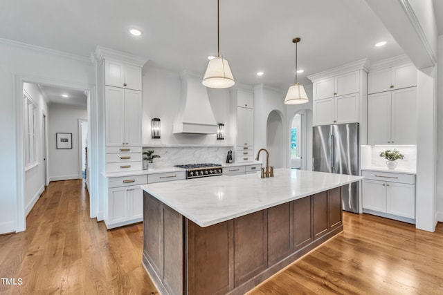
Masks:
[[[154,151],[161,158],[154,159],[158,167],[168,167],[181,164],[214,163],[224,164],[226,155],[233,147],[229,146],[168,146],[145,147],[143,151]]]

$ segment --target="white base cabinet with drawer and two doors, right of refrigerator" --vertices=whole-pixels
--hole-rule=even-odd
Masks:
[[[362,171],[363,212],[415,223],[415,175]]]

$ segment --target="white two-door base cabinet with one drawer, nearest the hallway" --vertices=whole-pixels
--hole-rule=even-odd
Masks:
[[[108,178],[107,229],[129,225],[143,220],[143,190],[146,175]]]

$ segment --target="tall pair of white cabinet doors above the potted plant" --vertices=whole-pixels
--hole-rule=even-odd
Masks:
[[[416,87],[368,95],[368,144],[417,144]]]

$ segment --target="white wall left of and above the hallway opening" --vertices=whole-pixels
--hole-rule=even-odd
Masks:
[[[21,89],[21,79],[25,82],[51,81],[57,86],[75,87],[95,84],[94,70],[89,59],[65,55],[52,50],[42,50],[0,39],[0,162],[6,169],[0,171],[0,234],[24,229],[24,217],[17,216],[19,202],[23,198],[24,183],[19,183],[19,175],[24,178],[23,166],[17,166],[22,157],[23,138],[16,133],[17,112],[15,97]],[[20,84],[20,85],[17,85]],[[87,87],[89,88],[89,87]],[[17,93],[18,91],[18,93]],[[20,97],[21,98],[21,97]],[[20,119],[23,115],[20,114]],[[23,161],[21,161],[23,164]],[[23,204],[24,207],[24,204]]]

